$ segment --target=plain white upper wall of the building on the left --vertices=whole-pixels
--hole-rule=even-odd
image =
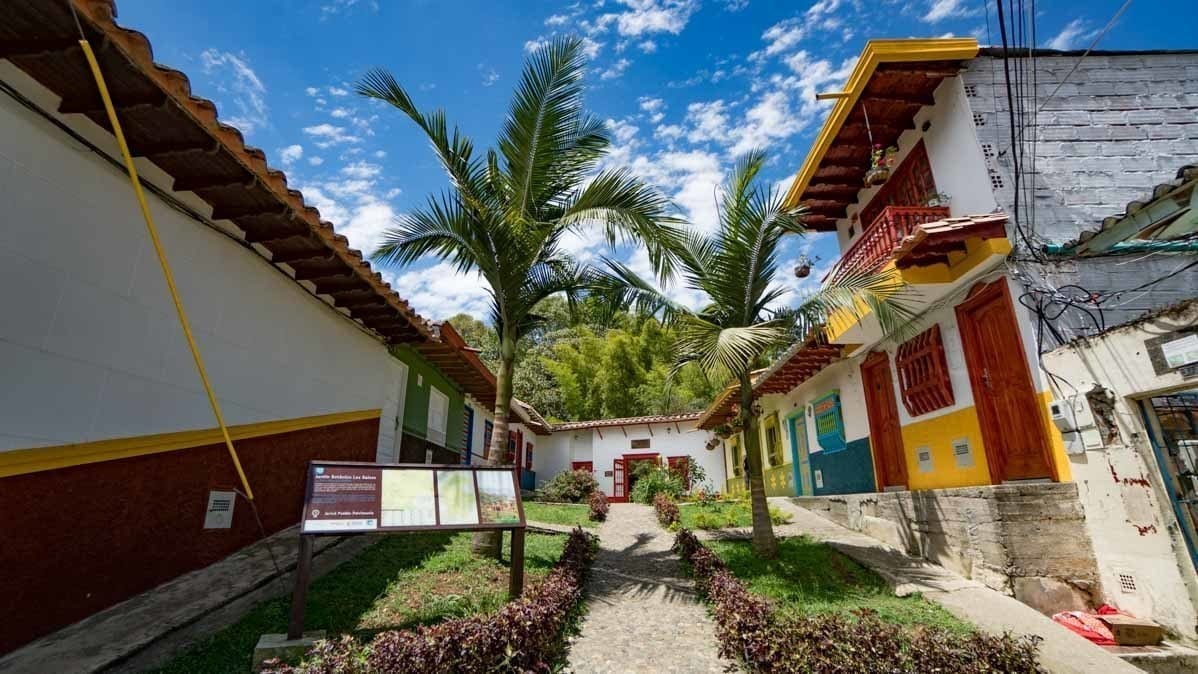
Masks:
[[[10,65],[0,77],[55,109]],[[213,427],[125,175],[0,97],[0,450]],[[386,407],[394,426],[403,382],[381,342],[226,236],[150,208],[229,424]]]

